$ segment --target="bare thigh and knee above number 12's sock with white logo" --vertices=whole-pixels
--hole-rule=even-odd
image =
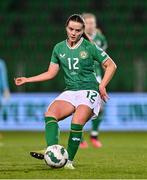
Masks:
[[[93,110],[87,105],[79,105],[72,118],[72,123],[84,125],[93,115]]]

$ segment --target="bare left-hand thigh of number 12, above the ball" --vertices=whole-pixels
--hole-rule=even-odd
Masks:
[[[71,115],[74,111],[75,108],[71,103],[63,100],[56,100],[49,106],[45,116],[55,117],[59,121]]]

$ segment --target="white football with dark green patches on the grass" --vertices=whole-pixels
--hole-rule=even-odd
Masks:
[[[61,168],[68,160],[68,152],[63,146],[58,144],[48,146],[45,151],[44,160],[52,168]]]

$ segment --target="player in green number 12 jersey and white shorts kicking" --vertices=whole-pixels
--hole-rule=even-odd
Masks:
[[[60,67],[63,68],[66,90],[45,113],[45,136],[47,146],[58,144],[58,121],[73,114],[67,147],[69,160],[65,165],[68,169],[74,169],[73,159],[81,141],[83,126],[91,116],[98,115],[101,98],[104,101],[108,99],[106,86],[116,70],[112,59],[85,39],[84,30],[83,18],[78,14],[71,15],[66,22],[67,40],[54,47],[48,70],[37,76],[15,80],[16,85],[46,81],[54,78]],[[105,68],[99,86],[93,74],[94,60]]]

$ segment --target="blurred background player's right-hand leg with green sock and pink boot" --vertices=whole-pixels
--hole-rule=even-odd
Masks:
[[[92,119],[92,131],[90,133],[90,141],[91,141],[92,145],[96,148],[102,147],[102,143],[99,140],[99,127],[102,122],[102,116],[103,116],[103,112],[101,110],[99,112],[99,115],[95,116]]]

